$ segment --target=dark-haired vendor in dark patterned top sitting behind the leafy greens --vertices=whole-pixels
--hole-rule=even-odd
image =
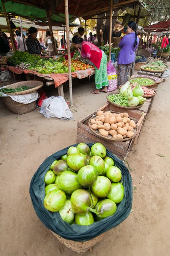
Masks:
[[[26,46],[28,47],[28,52],[31,54],[41,54],[41,46],[37,40],[38,30],[35,27],[30,27],[29,36],[26,39]]]

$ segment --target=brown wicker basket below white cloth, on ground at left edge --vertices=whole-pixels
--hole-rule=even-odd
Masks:
[[[37,107],[36,101],[29,104],[23,104],[14,101],[11,97],[2,97],[2,99],[4,104],[6,105],[6,108],[8,108],[9,111],[15,114],[26,114],[35,110],[35,108]]]

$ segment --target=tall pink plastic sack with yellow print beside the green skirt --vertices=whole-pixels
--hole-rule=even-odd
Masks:
[[[107,64],[107,76],[109,80],[107,91],[112,92],[117,88],[117,75],[112,61],[109,61],[109,63]]]

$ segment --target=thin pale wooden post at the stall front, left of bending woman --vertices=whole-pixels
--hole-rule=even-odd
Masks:
[[[70,44],[69,44],[69,6],[68,0],[65,0],[65,15],[66,15],[66,38],[67,38],[67,53],[68,53],[68,63],[69,63],[69,96],[70,105],[73,105],[72,100],[72,71],[71,71],[71,55],[70,55]]]

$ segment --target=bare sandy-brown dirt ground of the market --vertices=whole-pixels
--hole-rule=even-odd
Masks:
[[[30,180],[43,160],[76,143],[78,119],[106,103],[105,93],[90,93],[94,82],[73,83],[74,119],[69,121],[48,119],[38,108],[20,115],[19,121],[0,100],[0,256],[77,255],[41,223],[29,196]],[[57,90],[49,90],[50,96],[57,95]],[[68,85],[64,90],[68,101]],[[136,188],[133,212],[85,256],[170,255],[169,99],[170,79],[158,86],[138,143],[126,159]]]

